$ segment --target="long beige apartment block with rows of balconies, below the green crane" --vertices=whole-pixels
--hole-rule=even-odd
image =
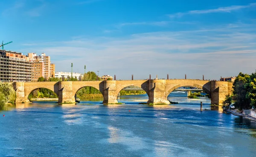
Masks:
[[[22,53],[0,50],[1,63],[0,63],[0,80],[4,82],[31,81],[32,63],[29,58]]]

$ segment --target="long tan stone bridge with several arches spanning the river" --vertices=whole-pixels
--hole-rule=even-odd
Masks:
[[[58,95],[58,103],[75,103],[76,92],[82,87],[94,87],[103,95],[103,104],[116,104],[118,93],[125,87],[138,86],[148,94],[147,104],[169,104],[168,95],[178,87],[194,86],[211,96],[211,104],[221,105],[230,94],[232,82],[190,79],[127,80],[127,81],[59,81],[14,82],[16,102],[28,102],[29,94],[38,88],[47,88]]]

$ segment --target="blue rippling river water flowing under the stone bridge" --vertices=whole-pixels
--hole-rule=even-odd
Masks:
[[[211,109],[206,97],[171,93],[168,99],[179,104],[139,104],[147,98],[6,107],[0,110],[0,157],[255,157],[255,121]],[[209,110],[201,112],[200,101]]]

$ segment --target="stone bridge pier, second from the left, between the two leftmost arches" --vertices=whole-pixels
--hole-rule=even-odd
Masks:
[[[75,94],[72,91],[73,81],[58,82],[58,103],[75,103]]]

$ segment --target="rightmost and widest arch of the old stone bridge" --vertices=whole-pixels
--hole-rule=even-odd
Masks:
[[[177,89],[179,87],[188,87],[188,86],[200,88],[200,89],[204,90],[207,94],[211,95],[211,84],[210,84],[210,82],[204,82],[204,83],[200,82],[200,84],[199,83],[193,83],[193,82],[180,82],[179,84],[172,84],[170,87],[168,87],[166,89],[166,98],[175,89]]]

